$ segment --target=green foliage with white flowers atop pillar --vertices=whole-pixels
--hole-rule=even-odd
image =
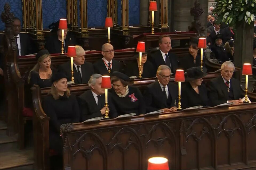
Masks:
[[[215,0],[213,13],[217,15],[218,23],[235,27],[243,20],[250,25],[255,20],[256,0]]]

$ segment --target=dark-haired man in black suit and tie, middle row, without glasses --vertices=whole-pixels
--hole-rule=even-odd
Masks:
[[[167,65],[171,68],[171,72],[175,75],[178,68],[178,60],[175,53],[171,53],[171,38],[168,35],[162,35],[158,40],[159,50],[151,55],[151,62],[155,66],[155,71],[160,65]]]

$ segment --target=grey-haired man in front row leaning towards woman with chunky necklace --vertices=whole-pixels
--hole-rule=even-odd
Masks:
[[[90,118],[103,116],[106,111],[105,105],[105,89],[101,88],[102,75],[93,74],[89,80],[89,86],[91,90],[87,90],[79,96],[81,121],[85,121]],[[110,118],[117,117],[117,111],[112,103],[111,94],[108,93],[108,105],[107,111]]]

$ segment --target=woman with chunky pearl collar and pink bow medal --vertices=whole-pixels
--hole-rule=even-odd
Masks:
[[[111,77],[111,83],[114,88],[111,91],[113,94],[113,103],[119,115],[128,113],[139,115],[146,113],[143,96],[138,87],[128,86],[129,77],[127,75],[114,71]]]

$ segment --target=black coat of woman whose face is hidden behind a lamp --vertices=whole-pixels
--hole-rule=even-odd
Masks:
[[[156,76],[156,72],[153,69],[154,66],[150,61],[146,61],[143,64],[143,73],[142,78],[151,78]],[[125,66],[125,74],[129,77],[131,76],[139,76],[139,66],[137,60],[131,61],[127,63]]]

